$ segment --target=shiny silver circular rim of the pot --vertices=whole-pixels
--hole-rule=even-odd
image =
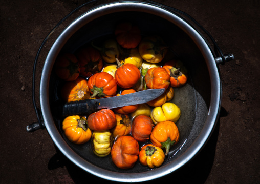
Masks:
[[[61,48],[68,41],[69,37],[71,37],[79,28],[81,28],[85,24],[88,24],[92,20],[100,17],[99,12],[102,12],[101,16],[105,16],[106,14],[122,11],[140,11],[152,13],[154,15],[167,19],[169,22],[181,28],[186,34],[188,34],[191,37],[193,42],[196,43],[205,60],[208,60],[206,64],[209,70],[211,83],[210,107],[205,124],[201,131],[203,132],[203,134],[201,133],[195,139],[195,141],[189,147],[189,149],[187,149],[182,155],[180,155],[177,159],[174,160],[174,164],[168,163],[167,165],[157,168],[156,170],[150,170],[149,172],[133,174],[117,173],[113,171],[104,170],[102,168],[96,167],[95,165],[92,165],[92,163],[89,163],[88,161],[84,160],[79,155],[77,155],[68,146],[66,141],[59,134],[57,127],[55,126],[50,110],[48,91],[51,76],[50,71],[52,70],[52,67],[54,65],[54,60],[56,59]],[[219,115],[219,109],[221,105],[221,81],[218,72],[218,67],[216,66],[215,59],[212,55],[209,46],[202,38],[202,36],[179,16],[158,6],[144,2],[114,2],[110,4],[101,5],[84,13],[83,15],[75,19],[75,21],[72,22],[66,29],[64,29],[62,33],[59,35],[59,37],[56,39],[55,43],[53,44],[48,53],[46,62],[42,69],[40,81],[40,105],[46,129],[49,135],[51,136],[52,140],[54,141],[55,145],[66,157],[68,157],[78,167],[95,176],[107,180],[119,182],[141,182],[156,179],[176,171],[177,169],[184,166],[187,162],[189,162],[204,147],[212,133],[212,130],[214,129],[215,121]]]

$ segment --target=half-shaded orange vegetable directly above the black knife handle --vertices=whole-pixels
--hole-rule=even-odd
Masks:
[[[61,97],[66,102],[89,99],[88,81],[83,77],[78,77],[74,81],[67,81],[61,88]]]

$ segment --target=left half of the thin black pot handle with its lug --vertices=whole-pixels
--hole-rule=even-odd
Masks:
[[[36,66],[37,66],[37,60],[40,54],[41,49],[44,47],[44,45],[46,44],[47,40],[49,39],[49,37],[52,35],[52,33],[67,19],[69,18],[74,12],[78,11],[80,8],[89,5],[91,3],[97,2],[97,0],[92,0],[89,2],[86,2],[82,5],[80,5],[79,7],[75,8],[73,11],[71,11],[68,15],[66,15],[64,18],[61,19],[61,21],[51,30],[51,32],[46,36],[46,38],[44,39],[44,41],[41,43],[38,52],[35,56],[34,59],[34,66],[33,66],[33,78],[32,78],[32,100],[33,100],[33,106],[34,106],[34,110],[37,116],[38,121],[37,122],[33,122],[32,124],[26,126],[26,131],[27,132],[34,132],[36,130],[39,129],[45,129],[45,125],[44,125],[44,119],[42,117],[41,111],[40,109],[37,107],[36,105],[36,101],[35,101],[35,72],[36,72]]]

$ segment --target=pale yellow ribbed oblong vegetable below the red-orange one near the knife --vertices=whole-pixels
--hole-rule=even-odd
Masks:
[[[105,157],[110,154],[114,138],[109,130],[94,131],[91,140],[95,155]]]

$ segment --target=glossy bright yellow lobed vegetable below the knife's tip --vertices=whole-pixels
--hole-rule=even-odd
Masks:
[[[181,110],[179,106],[174,103],[166,102],[162,106],[155,107],[151,111],[151,119],[154,124],[158,124],[161,121],[177,122],[181,116]]]

